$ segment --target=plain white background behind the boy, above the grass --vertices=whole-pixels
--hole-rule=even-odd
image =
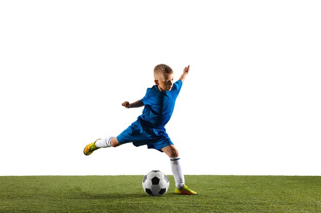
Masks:
[[[167,132],[185,174],[321,175],[319,1],[1,1],[0,175],[171,174],[117,136],[153,68],[190,74]]]

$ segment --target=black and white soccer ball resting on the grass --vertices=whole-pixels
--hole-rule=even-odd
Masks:
[[[164,172],[153,170],[143,178],[143,189],[151,196],[164,195],[169,187],[168,177]]]

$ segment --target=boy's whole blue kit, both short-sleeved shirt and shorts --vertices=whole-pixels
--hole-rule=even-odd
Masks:
[[[176,81],[170,91],[160,91],[157,85],[148,88],[141,100],[145,105],[137,121],[117,136],[121,144],[133,143],[136,147],[147,145],[148,149],[161,149],[173,145],[166,133],[165,125],[170,120],[175,101],[183,82]]]

